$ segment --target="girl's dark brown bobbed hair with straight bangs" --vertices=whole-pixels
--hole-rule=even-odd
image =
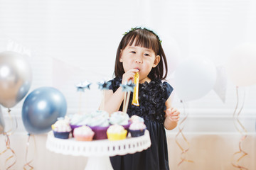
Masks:
[[[166,56],[164,54],[163,48],[161,47],[161,41],[159,40],[158,35],[146,28],[132,28],[132,30],[130,30],[128,33],[125,33],[124,37],[119,43],[119,47],[117,48],[114,76],[122,78],[122,74],[124,74],[124,68],[122,66],[122,62],[119,61],[121,50],[124,50],[127,45],[132,45],[134,41],[136,41],[135,46],[149,48],[155,52],[155,55],[159,55],[161,57],[159,64],[157,64],[157,66],[152,68],[151,72],[149,72],[149,79],[165,79],[167,76],[168,68]]]

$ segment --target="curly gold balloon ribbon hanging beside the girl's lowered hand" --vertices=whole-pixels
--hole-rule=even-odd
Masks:
[[[183,103],[183,101],[181,101],[181,103]],[[186,159],[186,154],[187,154],[187,152],[188,152],[188,149],[189,149],[189,147],[190,147],[190,144],[189,144],[188,140],[186,139],[185,135],[183,134],[183,129],[184,129],[184,126],[185,126],[185,125],[183,125],[183,127],[181,128],[181,124],[183,124],[183,123],[185,122],[186,118],[188,118],[188,114],[186,113],[186,105],[185,105],[185,103],[183,103],[183,113],[185,114],[185,117],[184,117],[184,118],[181,120],[181,122],[179,123],[179,125],[178,125],[178,133],[177,133],[177,135],[176,135],[176,137],[175,137],[176,144],[177,144],[178,147],[181,149],[181,162],[178,163],[178,166],[180,166],[183,162],[191,162],[191,163],[193,163],[192,160]],[[178,142],[178,139],[177,139],[177,138],[178,138],[178,135],[179,135],[179,134],[181,134],[183,140],[186,142],[186,144],[187,144],[187,146],[188,146],[186,149],[184,149],[184,148],[181,146],[181,144]]]

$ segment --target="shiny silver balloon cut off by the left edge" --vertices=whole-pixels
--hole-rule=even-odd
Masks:
[[[0,103],[6,108],[15,106],[26,96],[31,86],[31,67],[17,52],[0,53]]]

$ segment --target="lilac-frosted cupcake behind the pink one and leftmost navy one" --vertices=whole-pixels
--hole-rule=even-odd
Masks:
[[[88,121],[90,121],[89,114],[74,114],[70,115],[70,127],[71,127],[71,134],[73,135],[73,131],[75,128],[78,128],[82,125],[87,125]]]

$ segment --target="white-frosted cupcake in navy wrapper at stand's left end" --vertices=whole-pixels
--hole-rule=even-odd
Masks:
[[[58,118],[58,120],[51,127],[53,129],[54,137],[68,139],[71,131],[68,117],[65,117],[65,119]]]

